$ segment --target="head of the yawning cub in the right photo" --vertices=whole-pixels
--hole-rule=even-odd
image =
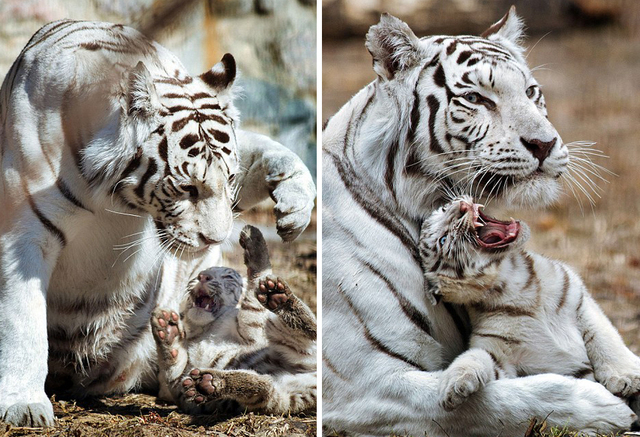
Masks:
[[[529,239],[526,223],[495,219],[482,207],[463,196],[436,209],[422,223],[420,256],[426,273],[472,278]]]

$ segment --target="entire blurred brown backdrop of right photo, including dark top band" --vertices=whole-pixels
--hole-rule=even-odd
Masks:
[[[419,37],[479,35],[511,4],[527,25],[527,62],[539,67],[549,119],[566,143],[596,142],[608,158],[593,161],[615,175],[591,175],[600,187],[593,206],[567,186],[543,211],[487,211],[525,220],[528,247],[573,266],[640,353],[640,1],[323,0],[322,118],[375,79],[364,41],[381,12]]]

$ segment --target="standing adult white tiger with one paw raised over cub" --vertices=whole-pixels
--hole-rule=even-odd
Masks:
[[[191,77],[110,23],[50,23],[23,49],[0,92],[0,418],[52,424],[47,359],[80,394],[155,385],[150,313],[217,264],[233,206],[271,196],[284,240],[306,227],[311,176],[236,130],[235,74],[225,55]]]

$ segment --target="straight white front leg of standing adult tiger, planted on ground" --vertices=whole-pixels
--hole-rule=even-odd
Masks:
[[[46,294],[63,242],[34,214],[14,217],[13,222],[29,232],[20,232],[16,225],[0,235],[0,420],[16,426],[53,426],[53,407],[44,391]]]

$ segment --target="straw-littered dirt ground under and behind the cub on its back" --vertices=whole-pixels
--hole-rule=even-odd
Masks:
[[[273,271],[286,278],[291,289],[312,310],[316,310],[316,223],[296,241],[282,243],[275,234],[270,209],[244,213],[236,220],[235,232],[223,251],[225,265],[246,273],[242,249],[237,243],[245,223],[258,226],[267,239]],[[317,434],[316,416],[270,416],[245,414],[229,416],[190,416],[174,405],[156,402],[149,394],[109,396],[89,400],[59,400],[52,397],[56,415],[53,428],[16,428],[0,422],[1,437],[311,437]]]

